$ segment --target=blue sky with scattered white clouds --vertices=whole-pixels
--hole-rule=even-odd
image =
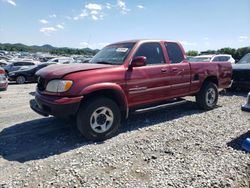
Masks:
[[[100,49],[131,39],[250,46],[250,0],[0,0],[0,43]]]

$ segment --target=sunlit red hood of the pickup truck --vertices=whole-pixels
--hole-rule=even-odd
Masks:
[[[37,71],[36,75],[41,76],[46,79],[56,79],[62,78],[63,76],[73,73],[73,72],[80,72],[80,71],[87,71],[87,70],[94,70],[94,69],[103,69],[112,67],[114,65],[104,65],[104,64],[56,64],[47,66],[39,71]]]

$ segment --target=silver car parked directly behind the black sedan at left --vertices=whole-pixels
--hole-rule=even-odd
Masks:
[[[6,73],[9,74],[12,71],[26,69],[26,68],[29,68],[30,66],[34,66],[34,65],[36,65],[36,63],[33,61],[15,61],[15,62],[12,62],[12,63],[4,66],[3,68],[6,71]]]

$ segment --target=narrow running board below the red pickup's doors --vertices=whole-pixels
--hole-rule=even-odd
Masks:
[[[140,114],[140,113],[149,112],[149,111],[153,111],[153,110],[159,110],[159,109],[162,109],[162,108],[173,107],[173,106],[177,106],[177,105],[181,105],[181,104],[185,104],[185,103],[187,103],[187,100],[180,99],[178,101],[168,102],[168,103],[160,104],[160,105],[157,105],[157,106],[137,109],[137,110],[133,111],[132,113],[133,114]]]

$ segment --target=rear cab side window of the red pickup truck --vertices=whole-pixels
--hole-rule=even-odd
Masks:
[[[184,60],[180,46],[174,42],[165,42],[168,58],[171,64],[181,63]]]

